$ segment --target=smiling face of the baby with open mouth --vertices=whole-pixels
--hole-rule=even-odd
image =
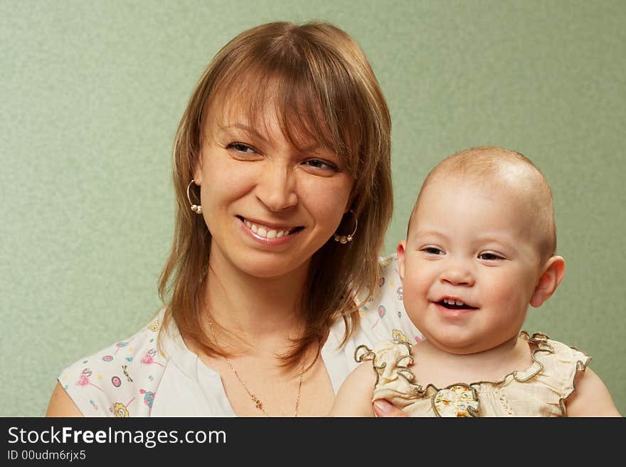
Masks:
[[[403,300],[425,337],[467,354],[515,337],[541,273],[523,196],[460,177],[430,182],[398,246]]]

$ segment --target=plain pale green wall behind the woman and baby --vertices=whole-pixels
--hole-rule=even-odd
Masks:
[[[230,0],[0,1],[0,415],[43,415],[65,365],[159,308],[196,80],[243,29],[310,19],[354,36],[391,108],[387,252],[442,157],[539,165],[568,270],[526,328],[590,353],[626,414],[626,3]]]

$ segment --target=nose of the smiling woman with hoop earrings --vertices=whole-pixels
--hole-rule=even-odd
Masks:
[[[256,187],[256,196],[270,211],[282,211],[298,204],[296,187],[292,167],[267,161]]]

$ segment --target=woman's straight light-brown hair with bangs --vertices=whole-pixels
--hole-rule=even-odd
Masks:
[[[304,132],[339,154],[354,178],[350,208],[358,230],[350,243],[329,238],[312,257],[300,300],[304,335],[283,356],[283,363],[292,366],[313,342],[319,355],[339,316],[346,322],[345,342],[359,323],[358,307],[378,287],[378,254],[393,208],[391,118],[363,51],[328,23],[256,26],[233,38],[209,63],[176,132],[176,224],[159,281],[159,295],[167,305],[164,325],[173,319],[181,335],[198,342],[209,355],[226,355],[202,331],[211,234],[203,216],[189,209],[186,189],[201,156],[208,112],[232,99],[248,105],[253,127],[262,117],[260,110],[273,103],[292,144],[297,147]],[[349,234],[353,227],[348,213],[337,230]],[[363,298],[359,303],[357,296]]]

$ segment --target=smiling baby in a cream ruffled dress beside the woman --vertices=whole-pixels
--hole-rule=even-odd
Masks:
[[[620,416],[590,357],[521,331],[554,293],[552,194],[523,155],[476,147],[426,177],[398,244],[406,313],[425,340],[360,346],[331,415],[373,416],[387,399],[410,416]]]

